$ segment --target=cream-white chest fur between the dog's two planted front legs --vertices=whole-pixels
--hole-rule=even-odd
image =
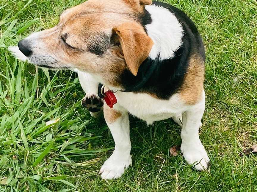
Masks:
[[[171,118],[181,114],[187,108],[179,99],[178,95],[173,95],[169,100],[160,100],[145,93],[115,93],[117,104],[114,108],[118,111],[126,109],[148,124],[154,121]]]

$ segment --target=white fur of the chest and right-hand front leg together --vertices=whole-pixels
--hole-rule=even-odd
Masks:
[[[160,100],[144,93],[115,93],[118,103],[114,108],[118,111],[129,111],[134,116],[145,120],[148,124],[173,117],[183,119],[181,131],[181,151],[189,164],[195,164],[198,170],[207,169],[210,161],[198,135],[205,108],[205,94],[196,105],[185,105],[178,94],[170,100]],[[177,122],[181,125],[181,122]]]

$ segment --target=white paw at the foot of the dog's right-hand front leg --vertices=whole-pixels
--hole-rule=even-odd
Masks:
[[[182,142],[181,152],[188,164],[194,164],[195,169],[203,171],[208,168],[210,159],[200,140],[195,143]]]

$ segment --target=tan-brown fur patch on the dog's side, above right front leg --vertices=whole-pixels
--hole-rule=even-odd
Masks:
[[[179,92],[180,97],[187,105],[195,105],[202,98],[204,81],[204,61],[198,54],[189,59],[188,71]]]

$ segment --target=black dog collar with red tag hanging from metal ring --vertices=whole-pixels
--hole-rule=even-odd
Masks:
[[[153,72],[156,71],[159,64],[159,55],[155,60],[150,59],[149,57],[140,65],[140,68],[138,70],[138,74],[135,79],[135,84],[130,85],[126,89],[119,90],[121,92],[135,92],[139,91],[151,78],[153,75]],[[98,84],[98,97],[103,98],[106,102],[106,104],[113,108],[113,105],[117,103],[117,99],[114,95],[114,91],[108,90],[107,92],[104,92],[104,85],[99,83]]]

